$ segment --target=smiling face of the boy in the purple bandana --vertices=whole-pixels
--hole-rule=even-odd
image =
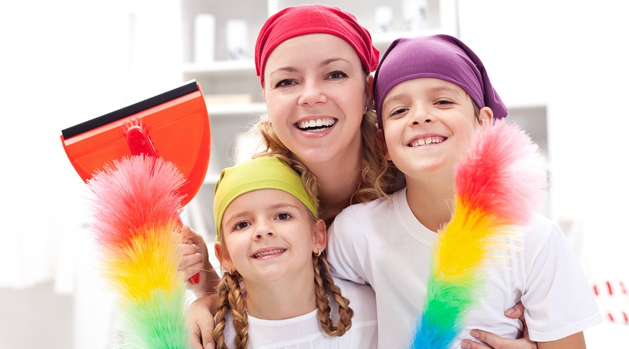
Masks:
[[[382,103],[386,158],[410,178],[453,171],[475,129],[493,117],[484,107],[477,119],[474,109],[472,98],[451,82],[401,82]]]

